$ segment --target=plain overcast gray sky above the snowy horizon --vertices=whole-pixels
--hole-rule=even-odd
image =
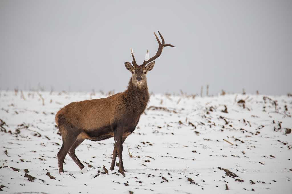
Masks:
[[[292,1],[0,1],[0,88],[124,91],[142,63],[155,93],[292,92]],[[204,92],[205,93],[205,92]]]

